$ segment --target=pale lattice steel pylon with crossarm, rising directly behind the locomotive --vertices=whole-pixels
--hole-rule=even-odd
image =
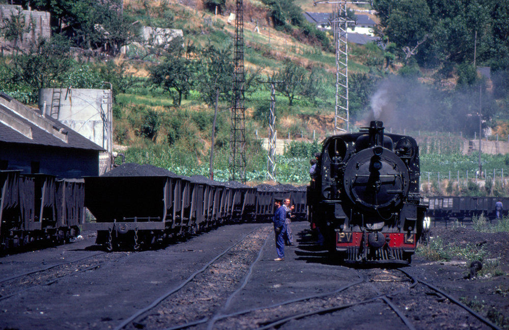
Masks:
[[[334,24],[334,40],[336,43],[336,103],[334,107],[334,130],[341,132],[350,131],[350,110],[348,101],[348,23],[355,21],[349,20],[347,16],[347,4],[371,4],[371,2],[360,1],[315,1],[314,5],[319,3],[337,4],[337,16],[331,20]],[[344,117],[342,116],[344,115]],[[339,120],[346,124],[346,127],[340,127]]]

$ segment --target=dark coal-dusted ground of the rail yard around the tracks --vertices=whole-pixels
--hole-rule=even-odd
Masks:
[[[395,275],[384,268],[355,269],[331,260],[326,251],[315,244],[307,222],[294,222],[292,229],[297,247],[285,249],[285,261],[273,260],[276,251],[271,224],[239,224],[222,226],[165,249],[122,252],[122,255],[116,252],[106,254],[108,257],[98,268],[76,272],[71,276],[69,267],[72,264],[69,264],[66,266],[67,276],[53,284],[38,286],[0,300],[0,329],[115,328],[168,291],[177,288],[246,234],[238,246],[214,262],[205,272],[196,275],[193,281],[163,299],[155,308],[140,315],[125,328],[163,329],[205,317],[211,318],[217,313],[229,314],[308,295],[333,292],[358,281],[359,273],[362,272],[364,276],[373,278],[374,282],[384,283],[389,292],[408,285],[408,281],[404,281],[401,275],[398,277],[402,280],[386,282],[386,279]],[[94,244],[94,235],[84,235],[85,239],[60,247],[0,258],[0,278],[97,253],[99,247]],[[471,244],[484,247],[486,260],[483,262],[487,264],[497,260],[495,271],[485,273],[482,277],[466,279],[469,274],[469,262],[466,260],[458,258],[450,262],[435,262],[419,255],[414,256],[410,267],[405,267],[406,271],[453,294],[479,313],[498,318],[503,328],[503,322],[509,317],[507,233],[432,228],[431,235],[440,235],[446,242],[459,246]],[[243,283],[262,247],[261,257],[252,267],[247,284],[231,298],[228,309],[224,309],[227,299]],[[81,268],[76,265],[78,269]],[[30,278],[26,280],[31,281]],[[254,311],[235,319],[220,319],[215,322],[214,329],[257,328],[263,322],[288,313],[347,304],[372,294],[369,286],[364,283],[313,302]],[[415,294],[414,297],[396,297],[394,303],[397,302],[402,302],[407,318],[415,321],[419,329],[486,328],[476,323],[473,317],[465,318],[459,310],[455,312],[456,309],[445,309],[454,304],[426,292]],[[426,308],[426,312],[421,308]],[[339,327],[372,328],[377,324],[384,329],[404,328],[398,317],[392,314],[385,304],[377,302],[354,307],[343,313],[290,321],[280,328],[307,329],[316,328],[317,324],[320,324],[321,330]],[[387,316],[391,316],[390,321]],[[207,323],[194,328],[207,328]]]

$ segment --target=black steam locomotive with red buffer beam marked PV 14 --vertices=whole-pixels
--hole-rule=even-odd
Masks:
[[[323,142],[308,186],[309,221],[345,262],[411,262],[423,231],[419,149],[405,135],[371,122]]]

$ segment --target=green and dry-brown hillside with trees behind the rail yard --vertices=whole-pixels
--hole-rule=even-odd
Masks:
[[[219,91],[215,177],[228,180],[233,0],[11,3],[50,12],[52,35],[22,49],[14,41],[34,28],[30,19],[19,14],[2,21],[0,37],[14,42],[3,47],[0,58],[3,92],[33,105],[39,88],[102,88],[109,82],[115,142],[127,161],[208,175]],[[276,84],[277,136],[294,141],[278,156],[277,177],[303,184],[317,141],[334,133],[336,65],[331,32],[307,22],[302,8],[326,12],[333,7],[304,0],[243,3],[248,181],[266,178],[260,138],[268,135],[270,86],[265,82],[272,80],[281,81]],[[376,13],[380,40],[349,44],[353,130],[376,118],[398,133],[473,138],[480,109],[483,127],[507,139],[509,0],[376,0],[373,7],[352,5],[348,16],[355,19],[360,10]],[[183,38],[158,43],[144,38],[143,27],[180,29]],[[478,74],[480,67],[490,68],[489,77]]]

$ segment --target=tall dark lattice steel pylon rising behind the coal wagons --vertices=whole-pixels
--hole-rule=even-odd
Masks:
[[[244,107],[244,21],[242,0],[237,0],[235,16],[235,58],[233,72],[232,129],[230,134],[230,174],[246,182],[246,129]]]

